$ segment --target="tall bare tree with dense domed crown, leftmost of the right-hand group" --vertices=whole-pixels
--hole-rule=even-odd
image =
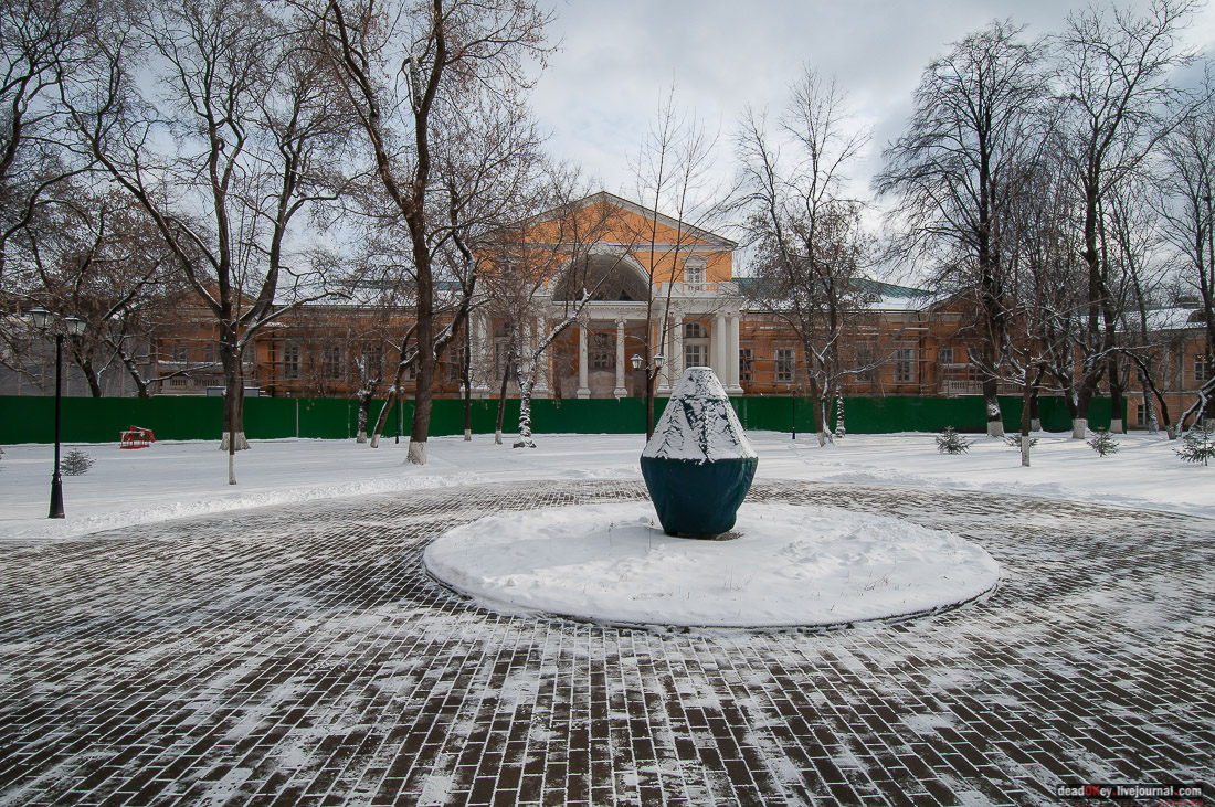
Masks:
[[[951,254],[946,273],[978,297],[972,358],[983,375],[988,436],[1002,437],[999,380],[1008,347],[1006,218],[1013,166],[1041,137],[1046,97],[1040,41],[1025,42],[1012,22],[993,22],[933,61],[915,95],[906,132],[886,149],[875,180],[894,195],[892,221],[906,226],[905,249]]]

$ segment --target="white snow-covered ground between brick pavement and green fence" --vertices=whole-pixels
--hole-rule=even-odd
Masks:
[[[1002,491],[1095,501],[1215,517],[1215,466],[1181,461],[1164,436],[1119,436],[1119,450],[1097,454],[1069,434],[1038,434],[1033,466],[1016,449],[976,437],[962,455],[937,453],[931,433],[850,434],[819,448],[813,434],[791,441],[750,432],[758,478],[855,482]],[[309,499],[462,485],[477,482],[640,478],[637,434],[549,436],[537,449],[495,445],[492,436],[430,441],[429,464],[405,465],[406,444],[369,449],[354,441],[255,441],[237,455],[238,485],[227,484],[227,458],[210,442],[162,442],[120,450],[117,443],[64,445],[96,460],[63,478],[67,518],[46,518],[53,449],[6,445],[0,458],[0,540],[70,538],[103,529],[287,504]]]

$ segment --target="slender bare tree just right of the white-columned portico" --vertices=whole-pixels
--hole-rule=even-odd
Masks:
[[[778,133],[748,110],[738,138],[740,200],[756,248],[750,296],[802,341],[820,445],[830,439],[831,400],[841,398],[841,341],[871,296],[861,277],[869,251],[863,203],[843,193],[844,172],[869,133],[848,118],[835,80],[807,69]]]

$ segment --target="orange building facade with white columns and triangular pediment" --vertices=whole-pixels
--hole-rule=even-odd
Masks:
[[[467,326],[439,356],[435,393],[460,396],[467,379],[473,397],[497,397],[505,375],[508,394],[518,394],[516,379],[507,373],[512,349],[533,352],[556,330],[535,366],[533,397],[642,397],[645,369],[634,369],[633,358],[644,359],[646,347],[662,357],[657,396],[671,392],[684,368],[700,365],[711,366],[734,396],[806,396],[804,346],[781,317],[748,301],[746,280],[735,278],[736,248],[728,238],[609,193],[522,222],[488,243],[493,255],[484,261],[486,280]],[[525,265],[524,280],[496,283],[505,278],[508,261]],[[981,394],[965,336],[965,302],[870,283],[865,309],[841,347],[841,364],[852,368],[840,379],[841,392]],[[525,299],[512,299],[519,288]],[[1174,419],[1215,373],[1204,324],[1194,322],[1194,313],[1162,309],[1151,322],[1151,349]],[[408,306],[375,295],[286,312],[247,351],[249,394],[355,397],[364,390],[382,397],[409,323]],[[152,380],[152,392],[220,394],[216,335],[209,312],[183,301],[147,348],[141,371]],[[12,382],[11,375],[0,376],[10,394],[40,391]],[[131,394],[128,387],[112,383]],[[412,393],[412,368],[405,369],[401,387]],[[1019,394],[1021,387],[1002,383],[1000,393]],[[1128,425],[1143,426],[1143,393],[1134,375],[1125,394]]]

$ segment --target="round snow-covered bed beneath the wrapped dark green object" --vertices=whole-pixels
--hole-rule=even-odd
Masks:
[[[423,564],[499,610],[689,627],[911,616],[973,599],[1000,576],[983,547],[888,516],[744,504],[734,533],[672,538],[648,501],[578,505],[458,527]]]

